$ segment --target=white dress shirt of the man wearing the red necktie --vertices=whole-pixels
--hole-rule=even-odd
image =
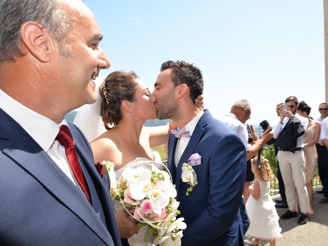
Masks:
[[[65,148],[55,140],[59,126],[68,126],[64,119],[58,126],[51,119],[18,103],[0,89],[0,108],[12,117],[36,141],[36,143],[50,156],[56,165],[78,187],[77,180],[69,165]],[[51,109],[50,109],[51,110]]]

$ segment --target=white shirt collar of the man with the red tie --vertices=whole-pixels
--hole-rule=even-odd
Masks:
[[[67,125],[64,119],[59,125],[57,123],[26,106],[18,103],[0,89],[0,108],[12,117],[24,130],[37,142],[46,152],[53,144],[60,125]]]

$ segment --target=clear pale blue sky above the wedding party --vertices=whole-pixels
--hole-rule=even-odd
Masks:
[[[135,71],[153,90],[166,60],[203,73],[216,118],[241,98],[249,122],[278,121],[275,106],[295,95],[319,117],[325,100],[322,0],[85,0],[103,31],[100,47],[116,70]]]

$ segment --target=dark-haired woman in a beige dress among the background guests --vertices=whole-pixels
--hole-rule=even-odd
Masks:
[[[309,204],[310,204],[309,215],[313,216],[314,211],[311,206],[312,194],[313,194],[312,179],[313,179],[316,163],[318,160],[315,144],[319,140],[321,124],[320,122],[312,119],[309,116],[311,112],[311,108],[304,101],[301,101],[299,103],[297,112],[299,115],[309,119],[309,126],[304,134],[303,152],[305,157],[305,183],[306,183],[306,189],[308,189]]]

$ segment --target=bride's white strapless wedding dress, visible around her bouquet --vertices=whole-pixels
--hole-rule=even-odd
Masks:
[[[155,162],[161,163],[161,158],[160,158],[160,155],[158,154],[158,152],[154,151],[153,156],[154,156]],[[137,157],[135,160],[130,161],[127,165],[125,165],[124,167],[115,171],[116,180],[119,180],[123,171],[126,168],[131,167],[134,163],[139,162],[139,161],[149,161],[149,159],[147,159],[145,157]],[[115,200],[114,208],[117,212],[120,210],[124,210],[123,206],[121,204],[119,204],[119,202],[117,200]],[[128,241],[129,241],[130,246],[145,246],[148,242],[152,243],[153,237],[149,236],[146,239],[147,229],[148,229],[148,226],[141,227],[138,234],[134,234],[131,238],[129,238]]]

